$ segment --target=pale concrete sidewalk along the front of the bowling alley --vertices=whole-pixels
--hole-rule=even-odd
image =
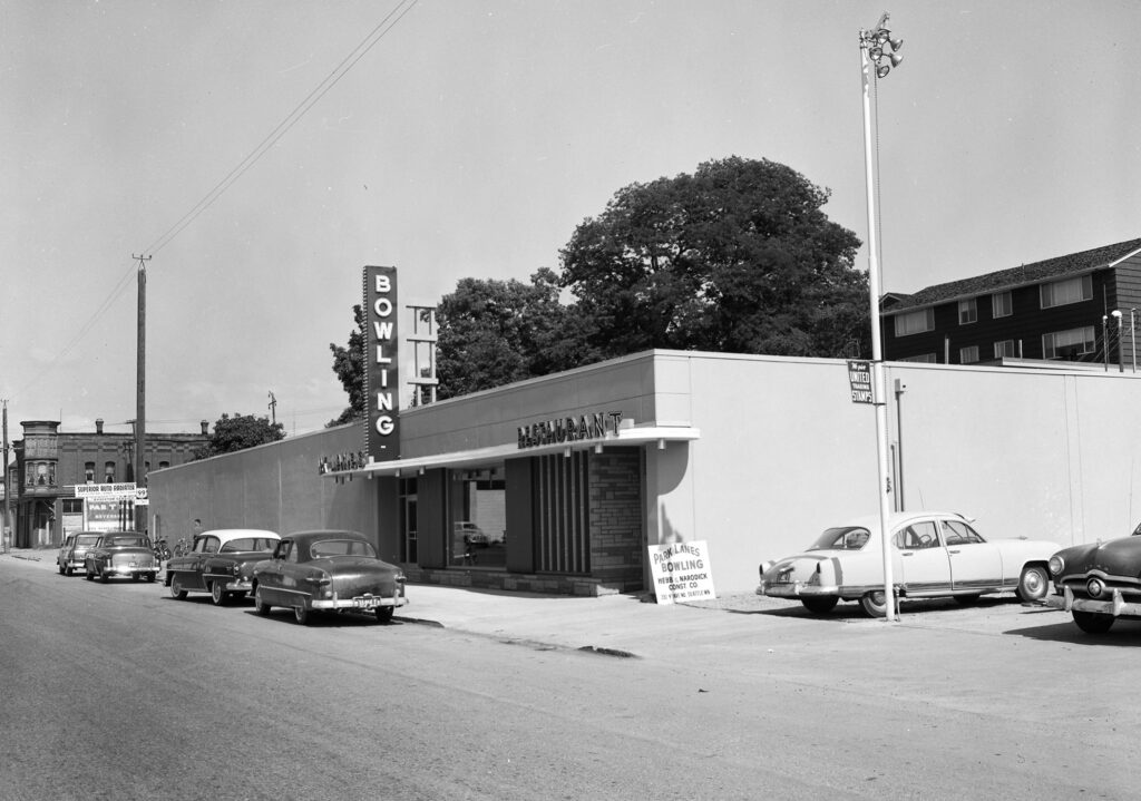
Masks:
[[[56,549],[11,549],[0,565],[57,571]],[[160,584],[162,574],[159,576]],[[155,588],[165,591],[165,588]],[[573,598],[524,592],[470,590],[410,584],[408,604],[396,613],[403,623],[438,625],[507,642],[591,650],[614,656],[642,656],[680,638],[733,636],[738,625],[755,628],[755,613],[795,606],[788,601],[738,592],[693,605],[642,602],[640,594]],[[748,618],[752,617],[752,621]]]

